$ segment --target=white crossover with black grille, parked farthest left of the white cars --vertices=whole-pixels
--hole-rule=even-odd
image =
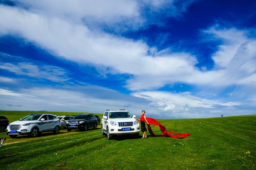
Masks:
[[[30,135],[36,137],[39,133],[52,131],[60,132],[60,120],[53,114],[30,114],[26,117],[10,123],[7,127],[7,135],[15,138],[18,135]]]

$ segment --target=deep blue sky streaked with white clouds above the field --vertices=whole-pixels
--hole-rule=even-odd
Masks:
[[[0,110],[256,114],[255,0],[0,0]]]

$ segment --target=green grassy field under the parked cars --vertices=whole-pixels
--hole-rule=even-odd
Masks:
[[[10,122],[32,112],[0,111]],[[49,112],[48,112],[49,113]],[[53,114],[77,114],[51,112]],[[98,114],[102,117],[102,114]],[[96,130],[63,129],[31,138],[6,137],[0,148],[1,170],[255,170],[256,115],[209,119],[158,119],[168,131],[190,133],[176,139],[118,136],[108,140]],[[161,134],[158,126],[152,126]]]

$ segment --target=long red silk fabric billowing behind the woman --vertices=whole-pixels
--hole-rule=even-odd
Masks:
[[[153,118],[146,118],[147,119],[147,122],[149,124],[147,124],[147,127],[148,127],[148,131],[149,133],[152,135],[152,136],[167,136],[167,137],[174,137],[174,138],[178,138],[178,139],[181,139],[181,138],[184,138],[184,137],[187,137],[188,133],[174,133],[174,132],[167,132],[166,128],[164,126],[161,125],[161,123],[159,123],[158,121],[156,121],[155,119]],[[155,135],[150,127],[150,125],[158,125],[162,131],[163,134],[161,135]],[[172,135],[174,134],[174,135]],[[176,136],[176,135],[180,135],[180,136]]]

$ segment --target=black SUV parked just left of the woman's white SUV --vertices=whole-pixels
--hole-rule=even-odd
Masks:
[[[97,128],[98,119],[94,114],[79,114],[73,119],[67,121],[67,130],[70,132],[72,129],[88,130],[88,128]]]

